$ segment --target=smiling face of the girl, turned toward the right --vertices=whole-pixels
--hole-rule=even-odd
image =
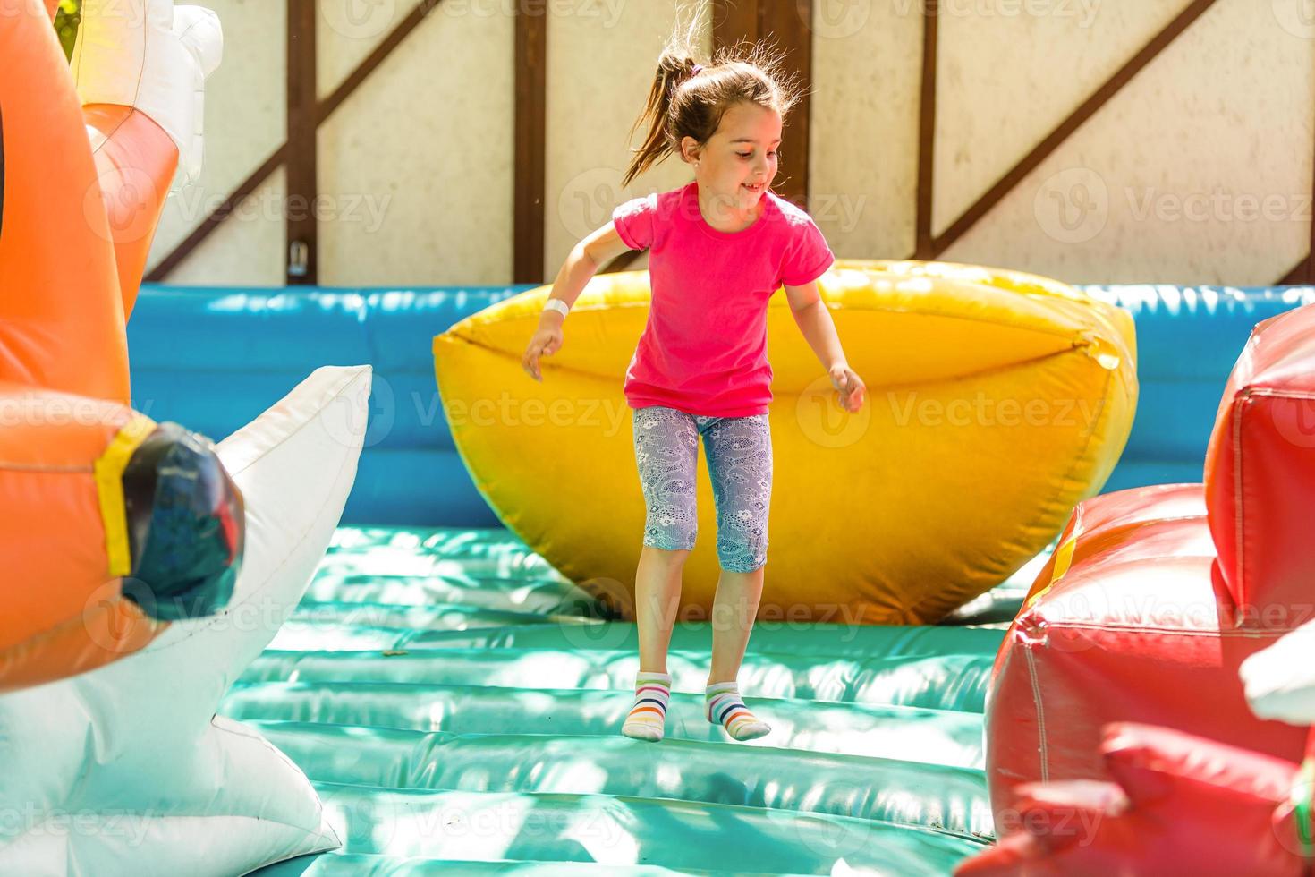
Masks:
[[[714,195],[731,213],[752,213],[776,179],[776,150],[781,145],[781,114],[759,104],[739,103],[722,116],[711,138],[700,147],[681,139],[682,158],[694,166],[698,188]]]

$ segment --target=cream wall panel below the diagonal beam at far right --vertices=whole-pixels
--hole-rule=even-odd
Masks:
[[[1282,277],[1310,246],[1315,32],[1276,8],[1220,0],[944,258],[1072,283]]]

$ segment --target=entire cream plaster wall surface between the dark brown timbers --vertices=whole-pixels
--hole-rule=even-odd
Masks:
[[[417,0],[320,1],[320,92],[327,95]],[[171,196],[153,263],[285,137],[284,4],[206,3],[226,33],[206,96],[206,167],[200,184]],[[546,280],[617,204],[690,179],[671,158],[626,191],[619,185],[642,137],[627,141],[658,54],[690,3],[546,5]],[[907,258],[920,1],[814,3],[810,209],[838,255]],[[1074,283],[1268,284],[1283,276],[1310,241],[1315,26],[1304,24],[1301,3],[1219,0],[943,258]],[[1185,7],[944,0],[934,230],[948,227]],[[322,283],[510,281],[514,8],[510,0],[443,0],[321,129]],[[710,42],[705,28],[705,51]],[[280,178],[258,201],[281,192]],[[216,233],[170,280],[281,284],[283,237],[283,216],[259,208]]]

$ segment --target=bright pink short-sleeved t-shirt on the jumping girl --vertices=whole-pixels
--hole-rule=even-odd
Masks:
[[[835,255],[813,218],[771,189],[757,220],[718,231],[698,209],[698,181],[626,201],[611,218],[648,250],[652,305],[626,368],[630,408],[748,417],[772,401],[767,302],[781,284],[822,276]]]

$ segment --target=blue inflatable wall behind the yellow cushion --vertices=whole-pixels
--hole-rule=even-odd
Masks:
[[[128,327],[133,404],[214,439],[320,366],[375,367],[345,523],[498,526],[466,473],[434,381],[433,337],[533,287],[197,289],[145,285]],[[1130,310],[1141,398],[1106,490],[1199,481],[1224,380],[1252,327],[1310,287],[1085,287]],[[876,376],[865,376],[876,383]]]

